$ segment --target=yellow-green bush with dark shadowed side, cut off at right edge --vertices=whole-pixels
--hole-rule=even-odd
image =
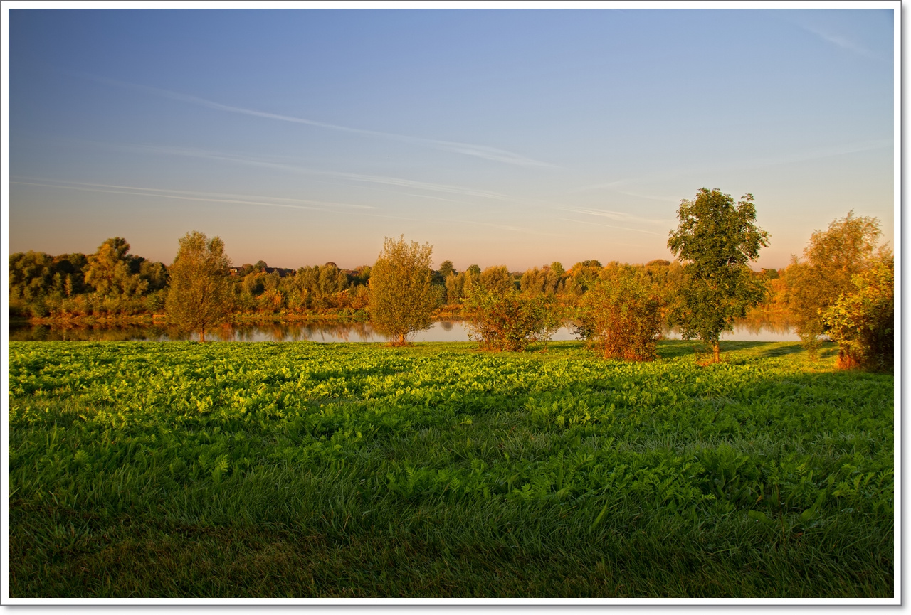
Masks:
[[[852,277],[854,290],[829,307],[823,323],[842,368],[891,370],[895,362],[895,264],[891,252]]]

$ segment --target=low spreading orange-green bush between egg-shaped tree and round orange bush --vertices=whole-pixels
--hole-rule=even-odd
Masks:
[[[476,282],[466,284],[469,328],[480,348],[522,351],[532,342],[547,341],[560,327],[552,297],[529,297],[515,288],[504,290],[501,276],[486,279],[492,286],[485,286],[483,273]]]

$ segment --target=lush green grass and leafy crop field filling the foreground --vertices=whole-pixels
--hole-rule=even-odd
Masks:
[[[893,596],[893,377],[831,349],[9,347],[13,597]]]

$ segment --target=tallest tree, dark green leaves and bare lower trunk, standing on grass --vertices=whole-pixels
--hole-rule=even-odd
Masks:
[[[748,263],[769,245],[769,234],[756,226],[749,194],[735,205],[730,195],[701,188],[693,200],[681,201],[677,216],[668,247],[684,263],[684,283],[671,322],[684,339],[709,344],[717,362],[722,332],[765,297],[764,280],[752,275]]]

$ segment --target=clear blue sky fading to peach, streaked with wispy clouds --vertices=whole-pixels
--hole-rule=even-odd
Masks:
[[[757,269],[850,210],[895,245],[896,3],[603,6],[9,9],[8,251],[642,263],[701,187]]]

